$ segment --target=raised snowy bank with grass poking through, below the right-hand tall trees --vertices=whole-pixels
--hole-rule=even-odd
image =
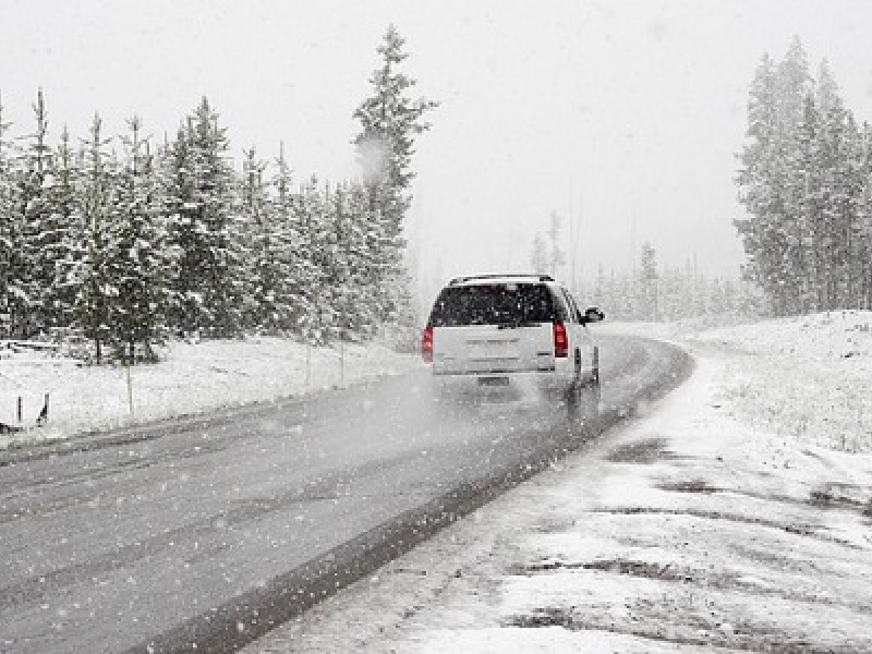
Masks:
[[[872,312],[766,320],[688,342],[729,354],[720,397],[744,422],[809,445],[872,450]]]

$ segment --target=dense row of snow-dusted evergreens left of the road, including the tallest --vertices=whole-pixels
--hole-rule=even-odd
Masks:
[[[313,343],[413,327],[402,219],[421,120],[397,70],[403,39],[378,48],[372,97],[354,113],[360,181],[294,183],[283,147],[241,169],[206,98],[155,144],[140,118],[49,142],[43,92],[31,134],[9,136],[0,105],[0,335],[80,336],[96,359],[154,358],[173,334],[258,331]]]

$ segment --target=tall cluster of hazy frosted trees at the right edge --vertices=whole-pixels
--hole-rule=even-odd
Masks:
[[[798,38],[767,55],[748,105],[736,221],[774,315],[872,305],[872,126],[858,124],[824,61],[814,78]]]

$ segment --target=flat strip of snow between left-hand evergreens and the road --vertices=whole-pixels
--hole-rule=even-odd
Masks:
[[[33,427],[49,396],[48,423],[0,434],[10,445],[70,438],[94,429],[189,415],[341,387],[420,365],[378,344],[307,348],[279,338],[172,342],[160,363],[84,366],[48,351],[0,341],[0,423]],[[22,398],[22,422],[17,422]],[[132,412],[131,412],[132,399]]]

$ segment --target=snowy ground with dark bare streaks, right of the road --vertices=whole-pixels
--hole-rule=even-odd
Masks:
[[[685,386],[246,652],[872,651],[870,324],[637,326]]]

